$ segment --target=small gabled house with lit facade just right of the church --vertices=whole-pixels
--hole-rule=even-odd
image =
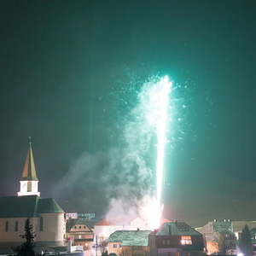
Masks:
[[[94,239],[94,224],[95,221],[85,218],[67,219],[67,239],[71,239],[74,246],[82,246],[84,251],[90,250]]]

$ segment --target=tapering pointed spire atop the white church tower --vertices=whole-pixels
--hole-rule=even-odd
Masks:
[[[33,158],[32,152],[32,142],[31,137],[28,137],[29,140],[29,148],[27,151],[26,161],[22,172],[22,177],[20,180],[26,181],[38,181],[36,167]]]

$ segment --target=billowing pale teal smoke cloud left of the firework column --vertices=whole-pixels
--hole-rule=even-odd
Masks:
[[[58,196],[74,195],[73,211],[83,205],[87,212],[105,213],[108,220],[122,224],[143,218],[143,207],[154,192],[156,117],[148,88],[154,90],[152,83],[143,85],[137,106],[125,116],[117,136],[119,147],[81,154],[57,183]]]

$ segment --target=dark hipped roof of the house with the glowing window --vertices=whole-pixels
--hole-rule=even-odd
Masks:
[[[201,236],[201,233],[184,222],[169,222],[162,224],[156,231],[156,236]]]

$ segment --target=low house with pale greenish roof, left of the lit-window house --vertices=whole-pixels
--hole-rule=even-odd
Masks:
[[[149,256],[150,230],[118,230],[108,238],[108,253],[118,256]]]

